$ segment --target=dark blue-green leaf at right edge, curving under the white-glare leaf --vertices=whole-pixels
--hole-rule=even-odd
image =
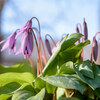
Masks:
[[[80,77],[80,79],[88,84],[93,90],[95,88],[100,88],[100,67],[94,64],[92,66],[93,68],[93,73],[94,73],[94,79],[88,78],[84,76],[78,69],[77,66],[74,66],[74,70],[76,71],[77,75]]]

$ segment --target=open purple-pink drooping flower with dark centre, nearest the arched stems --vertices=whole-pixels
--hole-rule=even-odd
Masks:
[[[24,55],[24,58],[26,59],[27,57],[30,57],[33,51],[33,36],[32,32],[25,32],[22,35],[21,39],[21,47],[20,49],[16,52],[16,55],[22,53]]]

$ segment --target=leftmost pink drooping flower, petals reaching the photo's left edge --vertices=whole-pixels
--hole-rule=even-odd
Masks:
[[[9,54],[11,54],[12,50],[14,50],[14,53],[16,52],[16,32],[14,32],[12,35],[10,35],[7,39],[2,40],[0,42],[0,45],[4,43],[1,51],[4,51],[5,49],[9,48]]]

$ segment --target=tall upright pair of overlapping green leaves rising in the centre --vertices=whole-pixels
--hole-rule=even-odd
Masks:
[[[57,65],[62,65],[67,61],[75,62],[79,59],[81,49],[90,43],[90,41],[87,40],[84,43],[75,45],[75,42],[82,36],[80,33],[74,33],[69,37],[67,36],[67,38],[65,37],[61,43],[59,43],[43,70],[43,76],[54,75],[57,72]]]

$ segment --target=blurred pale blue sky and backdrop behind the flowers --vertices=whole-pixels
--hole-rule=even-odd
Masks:
[[[21,28],[33,16],[40,21],[43,41],[45,34],[50,34],[57,42],[62,34],[76,32],[76,24],[83,24],[83,18],[87,22],[91,41],[95,33],[100,31],[99,0],[0,0],[0,41]],[[17,42],[19,46],[20,39]],[[84,48],[84,60],[90,58],[90,46]],[[34,52],[33,60],[36,59]],[[97,60],[100,64],[99,57],[100,53]],[[12,65],[17,62],[28,63],[28,60],[24,60],[22,54],[9,55],[8,49],[0,52],[0,64]]]

